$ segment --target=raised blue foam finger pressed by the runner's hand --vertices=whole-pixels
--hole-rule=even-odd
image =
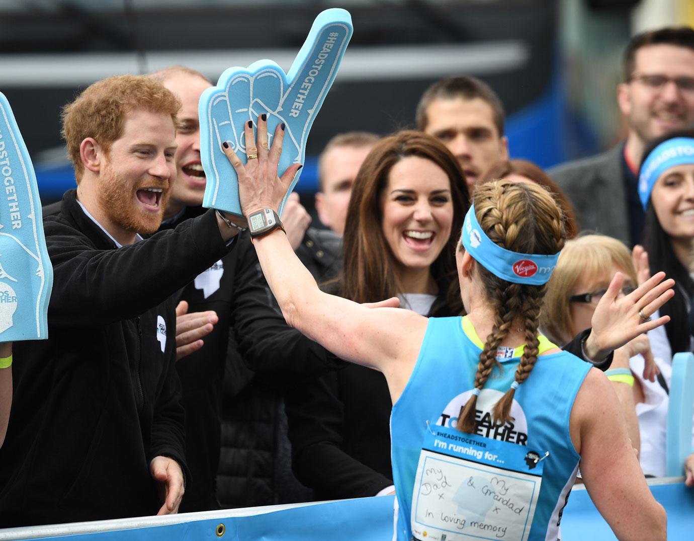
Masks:
[[[272,60],[258,60],[247,68],[226,69],[217,86],[203,92],[198,104],[201,161],[207,177],[203,206],[243,215],[238,178],[221,144],[230,141],[246,163],[244,124],[251,120],[255,126],[263,113],[270,143],[277,126],[286,125],[278,174],[304,162],[308,133],[335,81],[351,36],[350,14],[339,8],[325,10],[316,17],[287,74]],[[298,179],[296,174],[280,205],[280,215]]]

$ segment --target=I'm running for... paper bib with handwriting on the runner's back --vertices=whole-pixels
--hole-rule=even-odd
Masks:
[[[542,467],[539,453],[523,445],[435,426],[414,481],[414,538],[527,540]]]

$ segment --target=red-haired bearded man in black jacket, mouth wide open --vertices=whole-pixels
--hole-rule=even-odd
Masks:
[[[77,189],[44,217],[49,340],[15,344],[0,527],[178,510],[188,473],[167,299],[237,234],[210,211],[139,236],[160,226],[176,175],[179,107],[160,83],[119,76],[65,108]]]

